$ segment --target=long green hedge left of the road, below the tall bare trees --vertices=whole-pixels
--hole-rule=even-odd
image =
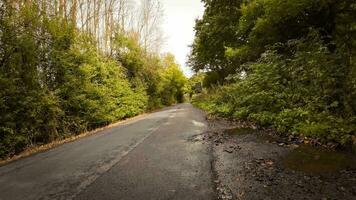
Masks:
[[[0,158],[183,101],[173,57],[121,34],[107,55],[35,3],[0,9]]]

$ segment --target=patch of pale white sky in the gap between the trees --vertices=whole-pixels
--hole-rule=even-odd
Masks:
[[[195,19],[203,16],[204,5],[200,0],[161,0],[161,3],[164,8],[164,51],[174,54],[184,74],[190,77],[193,72],[186,66],[189,45],[194,40]]]

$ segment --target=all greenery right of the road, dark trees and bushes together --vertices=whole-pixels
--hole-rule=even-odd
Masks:
[[[189,61],[199,72],[190,85],[204,86],[195,105],[356,145],[355,1],[203,2]]]

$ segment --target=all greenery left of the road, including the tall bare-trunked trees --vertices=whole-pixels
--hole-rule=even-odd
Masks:
[[[158,2],[128,4],[0,0],[0,159],[183,101]]]

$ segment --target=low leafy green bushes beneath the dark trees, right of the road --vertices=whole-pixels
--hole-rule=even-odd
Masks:
[[[236,76],[236,83],[197,96],[194,102],[211,113],[281,132],[350,142],[356,134],[355,107],[344,99],[356,97],[335,89],[345,84],[341,80],[349,81],[340,80],[348,75],[338,53],[331,53],[315,34],[306,40],[287,44],[296,49],[288,58],[267,51],[249,64],[248,76]]]

